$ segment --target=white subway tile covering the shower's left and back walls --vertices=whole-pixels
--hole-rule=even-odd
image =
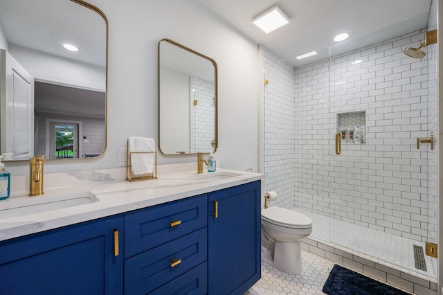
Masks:
[[[266,190],[280,194],[278,206],[428,240],[435,227],[428,225],[434,214],[428,180],[436,174],[428,177],[432,156],[428,145],[417,150],[416,138],[428,136],[427,115],[436,112],[436,96],[428,95],[430,83],[435,85],[435,55],[417,60],[402,52],[424,42],[426,30],[295,69],[294,100],[286,95],[291,68],[263,48],[269,80],[263,167]],[[426,49],[435,51],[435,45]],[[353,111],[365,111],[366,143],[342,145],[336,155],[337,114]]]

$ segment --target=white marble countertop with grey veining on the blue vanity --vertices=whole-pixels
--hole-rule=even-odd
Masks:
[[[71,193],[93,194],[98,198],[98,202],[90,204],[24,213],[12,217],[5,217],[7,213],[3,211],[2,217],[2,207],[4,209],[13,202],[39,198],[39,196],[28,197],[26,191],[11,194],[10,198],[0,201],[0,241],[201,195],[265,177],[259,173],[226,169],[205,172],[203,175],[197,175],[195,170],[189,170],[159,174],[158,179],[129,182],[121,179],[121,170],[118,170],[118,177],[114,177],[113,173],[115,174],[115,172],[71,172],[45,175],[49,188],[45,185],[44,197],[57,198]],[[71,181],[72,179],[75,181]],[[12,179],[11,184],[19,181],[25,183],[26,177],[16,181]]]

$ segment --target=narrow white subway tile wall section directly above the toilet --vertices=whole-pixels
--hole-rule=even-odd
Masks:
[[[266,191],[279,197],[273,205],[295,206],[296,146],[294,113],[294,69],[262,47],[263,80],[263,172]]]

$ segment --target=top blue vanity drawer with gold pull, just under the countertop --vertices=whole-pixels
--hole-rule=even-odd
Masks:
[[[157,247],[208,224],[208,195],[125,214],[125,258]]]

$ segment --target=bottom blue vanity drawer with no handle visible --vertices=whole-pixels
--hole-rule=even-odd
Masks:
[[[208,294],[208,263],[194,267],[190,271],[182,274],[178,278],[171,280],[168,284],[156,289],[150,295],[206,295]]]

